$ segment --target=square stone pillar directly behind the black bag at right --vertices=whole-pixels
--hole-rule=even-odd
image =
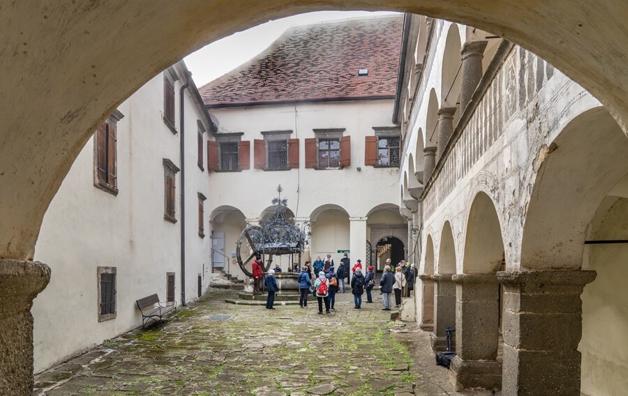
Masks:
[[[447,350],[445,328],[456,329],[456,284],[451,281],[451,274],[433,275],[434,287],[434,334],[431,345],[435,352]],[[452,344],[453,346],[453,344]]]

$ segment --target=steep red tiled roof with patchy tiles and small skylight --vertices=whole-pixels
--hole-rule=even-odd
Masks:
[[[394,97],[402,30],[401,14],[294,26],[199,91],[207,107]]]

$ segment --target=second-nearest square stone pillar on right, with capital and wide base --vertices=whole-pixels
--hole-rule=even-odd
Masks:
[[[502,364],[498,354],[500,304],[495,273],[457,274],[456,353],[451,376],[456,390],[502,387]]]

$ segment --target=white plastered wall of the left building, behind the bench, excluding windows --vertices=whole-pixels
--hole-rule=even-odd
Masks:
[[[35,371],[124,333],[142,323],[135,300],[166,299],[167,273],[174,273],[174,299],[181,304],[181,173],[176,175],[177,222],[165,220],[163,160],[181,168],[179,88],[183,63],[170,68],[177,133],[163,117],[163,73],[125,100],[117,122],[117,195],[96,187],[90,139],[45,215],[35,259],[49,263],[49,287],[33,305]],[[164,72],[168,73],[168,72]],[[184,92],[186,147],[186,300],[209,284],[209,236],[198,233],[198,193],[209,197],[207,170],[197,166],[197,121],[209,131],[202,107]],[[209,132],[204,132],[207,141]],[[207,206],[207,201],[206,204]],[[205,211],[207,223],[209,215]],[[207,225],[205,227],[207,233]],[[116,269],[116,317],[98,321],[98,267]]]

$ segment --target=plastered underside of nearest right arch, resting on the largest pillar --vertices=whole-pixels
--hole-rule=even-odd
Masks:
[[[579,114],[541,147],[523,227],[522,267],[581,268],[588,224],[628,172],[626,153],[628,139],[602,107]]]

